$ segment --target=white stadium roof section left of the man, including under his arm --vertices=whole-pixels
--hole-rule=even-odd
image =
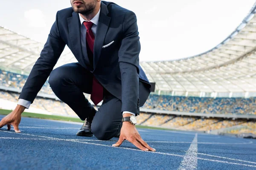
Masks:
[[[30,72],[44,45],[20,34],[0,27],[0,66]],[[72,52],[65,48],[56,67],[77,62]]]

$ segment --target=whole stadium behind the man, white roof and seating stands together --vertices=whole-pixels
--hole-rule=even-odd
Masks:
[[[17,105],[24,75],[42,48],[43,44],[0,27],[0,108],[11,110]],[[77,60],[65,48],[55,68],[70,62]],[[149,81],[156,83],[154,95],[140,110],[140,125],[256,134],[256,3],[230,36],[211,50],[140,65]],[[43,88],[31,112],[76,116],[55,100],[49,84]]]

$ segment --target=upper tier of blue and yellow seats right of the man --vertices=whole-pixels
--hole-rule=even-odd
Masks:
[[[256,97],[208,98],[151,94],[143,108],[216,114],[256,114]]]

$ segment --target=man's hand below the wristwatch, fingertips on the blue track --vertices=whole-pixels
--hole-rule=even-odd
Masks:
[[[130,122],[123,122],[121,133],[118,142],[112,146],[120,146],[124,140],[128,140],[136,147],[144,151],[156,151],[154,148],[150,147],[143,139],[140,137],[138,130],[135,125],[132,125]]]

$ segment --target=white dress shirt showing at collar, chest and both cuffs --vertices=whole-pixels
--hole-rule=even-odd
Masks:
[[[93,34],[94,36],[96,35],[96,31],[97,31],[97,26],[98,26],[98,22],[99,22],[99,14],[100,14],[100,9],[99,9],[99,12],[90,20],[90,22],[93,23],[93,26],[92,26],[92,31],[93,31]],[[83,22],[87,22],[87,20],[84,20],[84,18],[81,17],[81,14],[79,14],[79,19],[80,19],[80,22],[81,22],[81,43],[86,45],[86,28],[83,24]],[[24,100],[24,99],[19,99],[18,101],[18,105],[22,105],[24,106],[25,108],[29,108],[29,106],[31,105],[31,102],[30,101],[27,101],[27,100]],[[131,113],[131,112],[128,112],[128,111],[124,111],[122,114],[125,114],[125,113],[130,113],[132,115],[135,116],[135,113]]]

